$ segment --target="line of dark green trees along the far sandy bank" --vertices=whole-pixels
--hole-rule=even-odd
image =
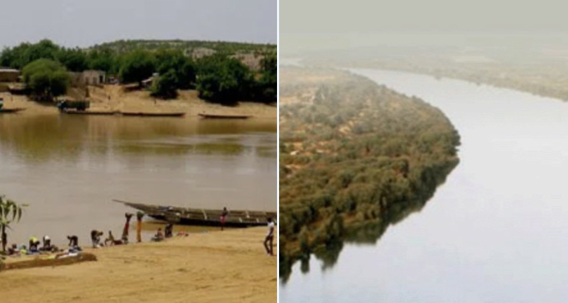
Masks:
[[[250,45],[245,50],[250,50]],[[196,89],[202,99],[224,105],[275,102],[276,50],[267,51],[264,45],[259,45],[258,50],[262,50],[261,67],[253,71],[230,52],[194,59],[179,48],[169,48],[168,43],[161,48],[132,48],[125,52],[104,46],[65,48],[42,40],[5,48],[0,53],[0,66],[22,70],[26,86],[37,99],[65,94],[70,81],[65,71],[94,69],[116,76],[121,83],[139,85],[158,73],[151,92],[163,99],[177,97],[177,90]]]

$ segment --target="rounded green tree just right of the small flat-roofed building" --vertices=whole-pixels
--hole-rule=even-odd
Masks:
[[[154,57],[143,50],[135,50],[126,55],[121,64],[119,78],[122,83],[139,83],[149,78],[155,69]]]

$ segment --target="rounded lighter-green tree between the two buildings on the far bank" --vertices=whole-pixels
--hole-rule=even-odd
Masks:
[[[38,59],[22,70],[26,87],[35,99],[52,101],[67,92],[69,73],[59,62]]]

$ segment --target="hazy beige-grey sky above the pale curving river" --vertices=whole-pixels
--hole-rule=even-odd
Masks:
[[[521,41],[519,36],[553,43],[568,40],[568,10],[559,7],[559,1],[549,2],[285,0],[280,1],[280,50],[499,43],[496,37],[503,35]]]

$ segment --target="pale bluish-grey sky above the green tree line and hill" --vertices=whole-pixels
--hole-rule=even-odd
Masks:
[[[156,38],[276,43],[276,0],[3,1],[0,48],[50,38],[65,46]]]

